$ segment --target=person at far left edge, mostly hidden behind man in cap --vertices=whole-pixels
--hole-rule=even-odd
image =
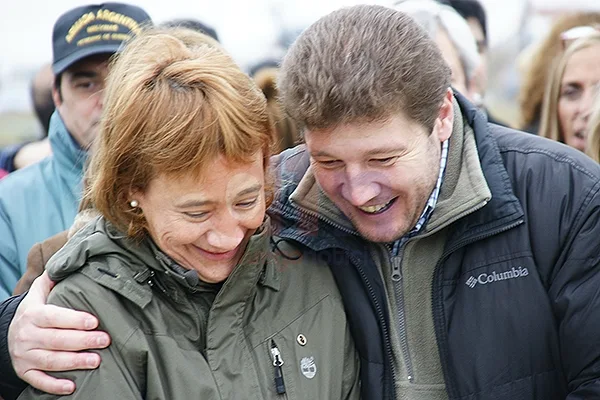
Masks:
[[[34,142],[19,143],[5,147],[0,151],[0,168],[13,172],[28,165],[35,164],[52,153],[48,140],[50,117],[54,112],[52,85],[54,74],[50,64],[40,68],[31,82],[31,103],[35,116],[42,129],[42,138]]]

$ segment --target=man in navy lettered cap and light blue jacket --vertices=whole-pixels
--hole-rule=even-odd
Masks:
[[[109,58],[147,23],[144,10],[122,3],[78,7],[56,21],[56,111],[48,135],[53,155],[0,182],[0,300],[25,271],[29,249],[73,223],[88,150],[98,133]]]

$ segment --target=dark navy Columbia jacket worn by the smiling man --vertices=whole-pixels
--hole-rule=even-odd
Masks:
[[[600,399],[600,166],[488,124],[460,95],[492,193],[451,226],[430,294],[450,399]],[[289,201],[309,165],[276,160],[279,235],[331,266],[361,355],[365,399],[393,399],[384,283],[368,244]],[[500,282],[510,280],[510,282]],[[504,284],[502,284],[504,283]]]

